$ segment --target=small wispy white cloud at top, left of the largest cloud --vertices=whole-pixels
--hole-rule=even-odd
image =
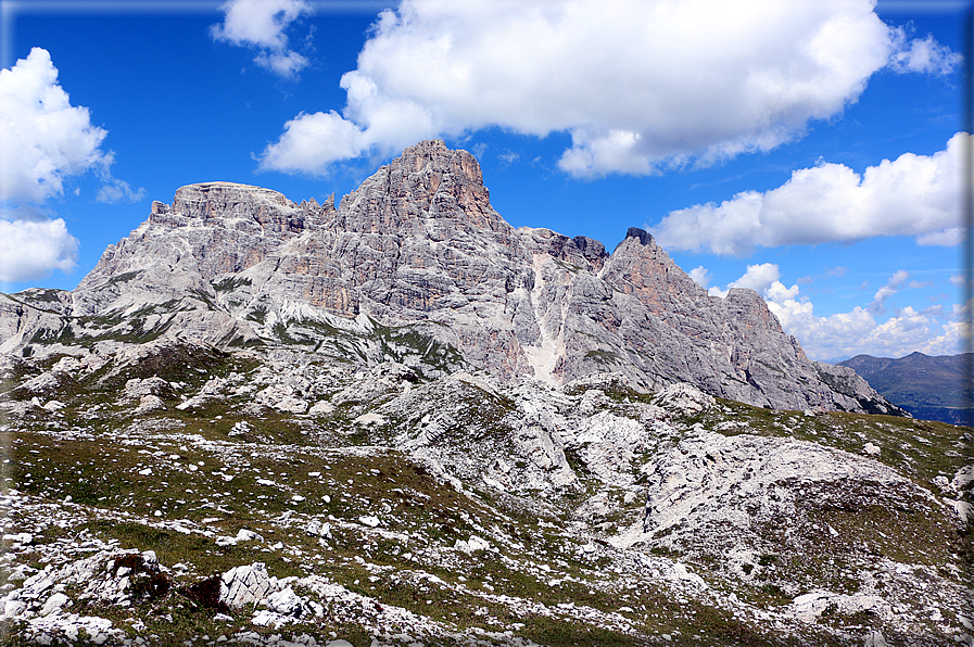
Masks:
[[[307,58],[289,47],[287,29],[314,8],[306,0],[229,0],[224,22],[210,29],[215,40],[256,50],[254,62],[284,78],[307,67]]]

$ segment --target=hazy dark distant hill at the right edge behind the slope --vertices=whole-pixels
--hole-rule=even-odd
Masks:
[[[916,418],[971,424],[974,407],[965,395],[972,388],[971,361],[971,353],[936,357],[911,353],[899,359],[857,355],[838,366],[855,369],[889,402]]]

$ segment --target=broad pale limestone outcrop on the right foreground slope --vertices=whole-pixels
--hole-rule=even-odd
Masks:
[[[873,459],[784,437],[700,432],[655,455],[644,471],[645,517],[612,543],[691,554],[722,550],[729,570],[747,559],[739,547],[763,545],[764,524],[804,541],[811,541],[810,533],[827,533],[822,524],[814,531],[817,522],[807,517],[821,506],[865,506],[890,497],[912,502],[918,513],[939,507],[927,491]]]

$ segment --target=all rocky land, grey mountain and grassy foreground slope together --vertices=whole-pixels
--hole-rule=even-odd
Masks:
[[[3,645],[974,645],[971,429],[442,142],[184,187],[0,351]]]

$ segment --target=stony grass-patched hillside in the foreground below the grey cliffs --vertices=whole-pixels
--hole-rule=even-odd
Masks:
[[[972,644],[969,429],[114,344],[3,356],[0,644]]]

